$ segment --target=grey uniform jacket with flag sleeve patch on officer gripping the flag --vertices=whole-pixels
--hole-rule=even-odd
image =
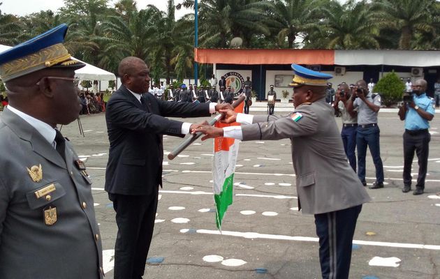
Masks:
[[[254,116],[242,133],[243,140],[291,139],[303,213],[337,211],[370,200],[347,161],[333,109],[324,99],[300,105],[288,116]]]

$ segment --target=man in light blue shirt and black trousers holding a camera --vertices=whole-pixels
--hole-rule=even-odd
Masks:
[[[412,92],[404,95],[404,104],[399,109],[400,120],[405,121],[403,193],[411,190],[411,165],[413,165],[414,151],[418,158],[418,178],[413,195],[421,195],[425,190],[427,158],[431,140],[428,121],[434,118],[435,113],[434,100],[426,96],[426,86],[426,80],[416,80]]]

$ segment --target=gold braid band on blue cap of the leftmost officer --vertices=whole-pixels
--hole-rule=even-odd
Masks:
[[[71,58],[62,43],[51,45],[32,54],[8,61],[0,66],[0,77],[3,82],[15,77],[27,75],[36,70],[51,67]]]

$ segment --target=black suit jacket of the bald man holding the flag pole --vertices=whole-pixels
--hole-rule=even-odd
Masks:
[[[107,103],[110,152],[105,190],[112,194],[149,195],[162,185],[162,135],[181,134],[172,117],[210,116],[208,104],[175,103],[142,94],[143,104],[121,86]]]

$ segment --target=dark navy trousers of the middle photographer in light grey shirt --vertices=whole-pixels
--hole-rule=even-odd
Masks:
[[[374,167],[376,167],[376,183],[383,183],[383,165],[381,159],[381,149],[379,145],[380,130],[377,124],[362,128],[358,125],[356,133],[356,146],[358,146],[358,177],[365,182],[365,157],[367,156],[367,146],[372,154]]]

